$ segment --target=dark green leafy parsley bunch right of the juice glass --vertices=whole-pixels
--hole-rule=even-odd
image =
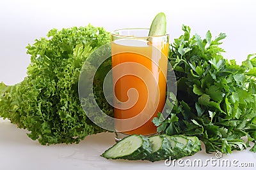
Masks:
[[[182,25],[184,34],[171,45],[169,60],[177,79],[177,96],[168,94],[169,110],[153,122],[158,132],[197,136],[206,152],[243,150],[256,139],[256,54],[241,66],[224,59],[221,33],[212,39]],[[172,109],[171,109],[172,108]],[[166,118],[167,117],[167,118]],[[256,145],[251,148],[256,152]]]

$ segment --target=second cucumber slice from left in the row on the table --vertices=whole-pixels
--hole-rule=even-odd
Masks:
[[[149,138],[152,144],[152,153],[146,158],[151,162],[168,159],[171,152],[171,143],[164,136],[156,135]]]

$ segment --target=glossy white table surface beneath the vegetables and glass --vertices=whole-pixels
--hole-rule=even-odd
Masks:
[[[8,121],[0,120],[0,169],[172,169],[172,166],[166,166],[164,161],[148,162],[147,160],[107,160],[100,157],[100,154],[112,146],[114,134],[105,132],[88,136],[79,144],[73,145],[51,145],[42,146],[36,141],[32,141],[24,129],[17,129],[16,125]],[[189,160],[202,160],[204,164],[207,159],[214,159],[216,162],[208,162],[207,166],[186,166]],[[221,166],[218,161],[230,160],[230,166]],[[184,167],[189,169],[241,169],[244,163],[253,164],[254,167],[244,167],[244,169],[255,169],[256,153],[244,150],[242,152],[233,152],[230,155],[223,155],[217,159],[214,153],[205,153],[203,150],[192,157],[182,158],[184,162],[180,165],[176,162],[175,169]],[[235,162],[234,166],[233,163]],[[186,163],[187,162],[187,163]],[[220,165],[220,166],[218,166]],[[237,167],[236,167],[237,166]]]

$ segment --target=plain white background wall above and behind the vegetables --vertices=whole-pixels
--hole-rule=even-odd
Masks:
[[[225,32],[224,54],[241,61],[256,52],[256,1],[96,1],[96,0],[1,0],[0,1],[0,81],[7,84],[26,76],[28,43],[45,37],[52,28],[85,26],[89,23],[108,31],[125,27],[150,27],[163,11],[171,41],[182,34],[182,24],[204,37]]]

